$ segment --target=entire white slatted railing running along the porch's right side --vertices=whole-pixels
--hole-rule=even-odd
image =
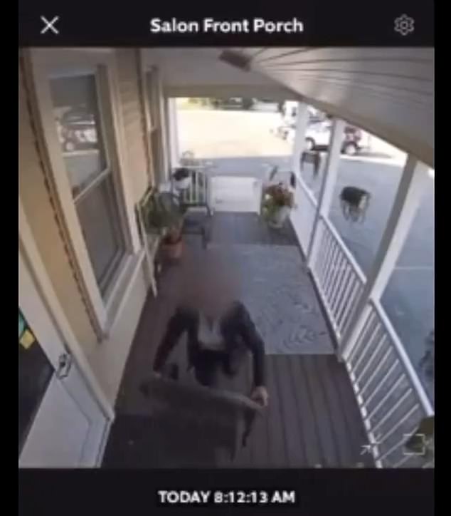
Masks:
[[[307,254],[317,202],[297,180],[292,225]],[[364,291],[366,277],[327,217],[319,216],[318,245],[310,270],[338,344]],[[379,468],[433,466],[433,459],[407,455],[404,444],[433,407],[386,312],[368,303],[364,325],[344,356],[371,452]]]

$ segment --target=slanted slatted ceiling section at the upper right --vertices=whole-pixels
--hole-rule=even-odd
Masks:
[[[434,48],[235,48],[250,68],[434,167]]]

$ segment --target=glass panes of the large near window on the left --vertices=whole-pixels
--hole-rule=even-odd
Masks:
[[[95,279],[105,298],[125,253],[115,180],[94,73],[51,79],[65,172]]]

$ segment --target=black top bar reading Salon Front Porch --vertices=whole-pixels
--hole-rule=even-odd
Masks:
[[[21,0],[19,46],[434,45],[433,3],[424,0],[217,4]]]

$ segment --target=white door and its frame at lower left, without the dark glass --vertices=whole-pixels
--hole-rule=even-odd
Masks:
[[[53,368],[51,381],[38,403],[37,411],[33,416],[23,448],[19,454],[19,468],[36,466],[53,468],[58,463],[64,464],[65,467],[97,467],[101,463],[107,443],[107,435],[110,430],[109,420],[95,397],[92,396],[92,392],[76,363],[72,364],[64,377],[58,374],[61,356],[69,356],[70,361],[72,361],[70,351],[65,346],[63,337],[58,332],[55,324],[53,324],[52,316],[38,292],[33,273],[20,249],[18,266],[19,307],[36,336],[38,344],[35,344],[35,346],[41,347]],[[60,409],[65,413],[63,418],[60,416],[60,411],[54,406],[54,403],[61,402],[63,402],[63,406],[60,406]],[[56,413],[55,410],[57,410]],[[66,435],[68,417],[74,418],[71,422],[76,427],[81,425],[78,430],[86,425],[83,433],[75,431],[71,434],[71,443],[70,439],[67,439],[68,435]],[[61,424],[63,424],[63,427],[60,426]],[[49,433],[55,431],[57,434],[51,438]],[[55,440],[59,443],[57,448],[54,448]],[[66,443],[67,440],[65,448],[60,449],[59,446],[63,442]],[[68,463],[66,463],[68,460],[67,453],[69,455],[75,453]],[[51,458],[50,455],[52,454],[54,455]],[[77,456],[78,460],[76,459]],[[76,460],[76,462],[73,462],[73,460]]]

